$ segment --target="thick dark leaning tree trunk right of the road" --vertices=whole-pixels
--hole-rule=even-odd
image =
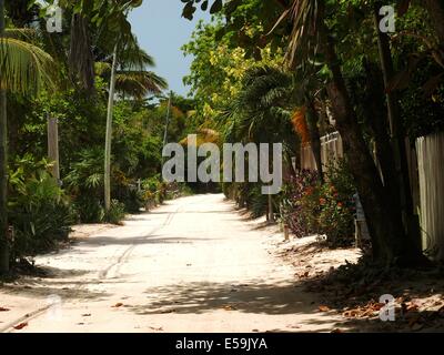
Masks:
[[[319,9],[320,44],[333,73],[332,82],[327,85],[329,97],[332,101],[337,130],[343,139],[344,152],[353,168],[352,173],[372,236],[373,256],[376,262],[384,264],[413,263],[420,258],[420,255],[414,253],[414,248],[405,237],[402,221],[394,215],[387,204],[384,186],[350,100],[334,43],[329,38],[322,3]]]

